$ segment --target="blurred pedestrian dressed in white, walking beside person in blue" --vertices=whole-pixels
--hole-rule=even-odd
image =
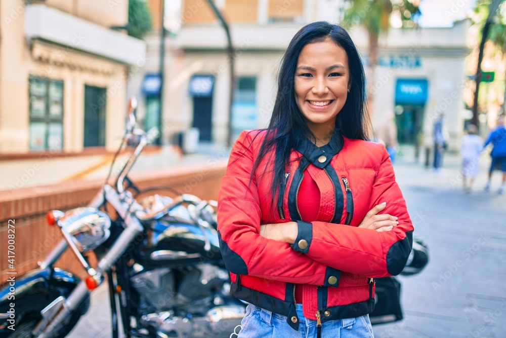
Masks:
[[[470,193],[480,170],[479,157],[483,148],[483,140],[476,135],[478,128],[474,124],[468,125],[467,132],[468,134],[462,137],[460,143],[460,156],[462,157],[463,187],[467,193]]]

